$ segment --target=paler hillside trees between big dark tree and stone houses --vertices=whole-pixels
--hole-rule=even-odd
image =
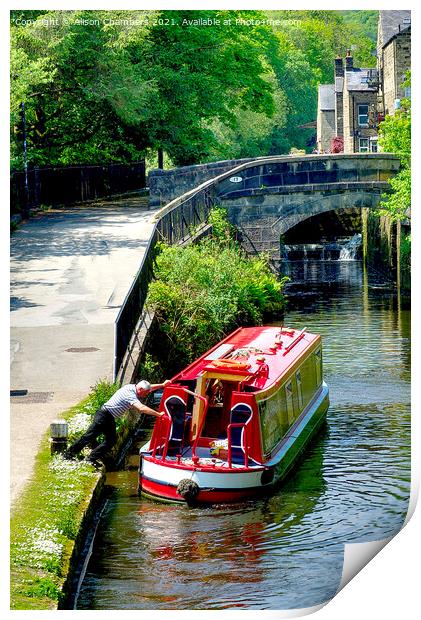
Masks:
[[[353,50],[356,66],[374,66],[373,42],[340,11],[267,11],[281,20],[275,27],[278,48],[271,58],[283,93],[286,123],[272,130],[270,153],[288,153],[292,147],[307,148],[314,132],[300,125],[314,121],[317,86],[333,82],[334,58]]]

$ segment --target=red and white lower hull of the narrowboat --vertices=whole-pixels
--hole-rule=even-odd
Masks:
[[[303,411],[281,441],[276,453],[264,465],[237,467],[224,471],[209,466],[187,467],[174,461],[159,462],[147,452],[139,467],[139,492],[149,498],[176,503],[216,504],[253,499],[271,493],[299,460],[309,441],[326,419],[329,390],[323,383],[320,393]],[[191,480],[199,488],[194,501],[188,502],[177,493],[183,480]]]

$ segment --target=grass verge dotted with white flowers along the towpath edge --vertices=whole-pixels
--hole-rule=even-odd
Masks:
[[[70,441],[86,430],[96,409],[118,387],[101,381],[85,400],[63,413]],[[130,418],[120,422],[120,444],[132,426]],[[89,525],[92,498],[104,479],[103,472],[82,459],[51,456],[49,436],[44,436],[32,478],[11,515],[11,609],[56,609],[67,596],[66,581],[81,532]]]

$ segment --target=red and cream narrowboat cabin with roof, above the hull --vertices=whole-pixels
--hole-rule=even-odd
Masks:
[[[178,466],[261,467],[322,390],[318,335],[240,328],[165,387],[148,454]]]

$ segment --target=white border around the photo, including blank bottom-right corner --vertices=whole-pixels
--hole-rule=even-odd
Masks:
[[[0,15],[2,17],[0,21],[1,28],[1,36],[0,36],[0,45],[1,45],[1,57],[3,62],[1,63],[0,70],[7,72],[8,74],[8,62],[4,62],[4,59],[8,58],[9,48],[8,48],[8,24],[9,17],[8,11],[10,9],[34,9],[34,8],[51,8],[51,9],[76,9],[76,8],[85,8],[82,6],[82,2],[60,2],[55,1],[51,2],[51,0],[45,0],[43,2],[28,2],[28,1],[19,1],[10,2],[6,0],[5,3],[1,5]],[[186,1],[170,1],[162,2],[156,0],[155,2],[142,2],[139,3],[130,1],[127,2],[125,0],[119,0],[119,2],[110,2],[109,0],[91,0],[89,3],[90,9],[142,9],[142,8],[165,8],[165,9],[179,9],[179,8],[238,8],[238,9],[288,9],[288,8],[297,8],[297,9],[323,9],[323,10],[339,10],[339,9],[366,9],[367,2],[364,1],[354,1],[352,3],[346,3],[345,7],[341,6],[339,2],[305,2],[300,0],[295,0],[294,2],[286,3],[286,6],[279,5],[279,3],[274,2],[263,2],[263,5],[256,2],[250,2],[250,0],[244,0],[239,2],[238,0],[232,0],[231,2],[209,2],[206,0],[202,0],[200,3],[192,3]],[[379,2],[379,0],[373,0],[370,5],[370,9],[389,9],[396,10],[399,8],[398,2],[390,2],[388,0],[384,0],[383,2]],[[406,9],[412,9],[412,28],[415,28],[417,33],[417,21],[418,21],[418,10],[415,2],[407,2],[405,3]],[[420,58],[420,50],[418,44],[418,36],[413,37],[413,59],[414,69],[417,69],[416,63]],[[4,122],[1,124],[1,139],[2,139],[2,152],[7,153],[8,151],[8,123],[5,122],[5,119],[8,118],[9,110],[8,110],[8,101],[9,101],[9,83],[7,75],[3,75],[1,79],[1,88],[2,88],[2,106],[3,106],[3,115],[2,118]],[[419,92],[418,92],[418,72],[413,72],[413,88],[412,92],[414,93],[414,108],[416,109],[416,113],[414,114],[414,135],[418,137],[418,101],[419,101]],[[418,142],[414,139],[414,145]],[[418,153],[417,150],[413,150],[413,158],[414,164],[413,169],[418,170]],[[4,196],[3,204],[3,217],[7,213],[7,209],[5,208],[9,203],[8,194],[9,194],[9,178],[8,178],[8,170],[5,165],[5,158],[3,157],[3,165],[1,166],[1,182]],[[419,175],[418,175],[419,176]],[[418,179],[416,186],[413,189],[413,204],[418,207]],[[415,209],[414,209],[415,211]],[[413,265],[419,265],[419,247],[420,243],[418,243],[418,216],[416,213],[414,214],[413,219],[413,236],[416,238],[416,243],[413,244]],[[2,226],[4,239],[2,239],[1,248],[2,248],[2,265],[4,272],[6,272],[5,265],[8,265],[8,220],[3,223]],[[417,247],[418,246],[418,247]],[[413,272],[416,272],[416,267],[413,267]],[[7,283],[7,277],[2,278],[3,283]],[[6,286],[5,286],[6,289]],[[8,305],[6,307],[8,297],[8,291],[4,291],[2,295],[3,305],[2,305],[2,329],[4,330],[4,338],[3,342],[7,341],[7,326],[9,323],[8,320]],[[418,316],[419,313],[417,310],[418,307],[418,298],[419,291],[416,286],[416,281],[414,278],[413,282],[413,294],[412,299],[413,303],[416,306],[415,311],[413,312],[413,316]],[[413,341],[418,344],[419,343],[419,328],[414,321],[413,324],[414,333],[413,333]],[[418,376],[415,372],[418,373],[418,369],[421,368],[419,353],[413,348],[414,352],[414,360],[413,360],[413,369],[416,369],[413,374],[413,402],[418,404],[420,402],[419,399],[419,385],[421,382],[418,379]],[[5,393],[7,390],[7,379],[5,381],[5,377],[8,377],[8,362],[2,365],[2,378],[3,378],[3,390],[2,395],[5,398]],[[6,384],[6,385],[4,385]],[[7,403],[7,404],[6,404]],[[5,398],[5,406],[2,408],[3,412],[3,434],[8,436],[9,430],[9,422],[8,416],[5,415],[4,412],[8,411],[8,401]],[[419,423],[416,420],[420,414],[417,411],[416,407],[413,407],[413,417],[412,417],[412,496],[411,496],[411,508],[410,512],[414,511],[416,498],[419,493],[419,472],[420,472],[420,431],[419,431]],[[6,440],[7,441],[7,440]],[[2,450],[3,460],[3,472],[8,471],[8,450]],[[2,484],[4,485],[3,489],[3,497],[9,497],[8,490],[8,480],[7,476],[2,476]],[[6,508],[7,501],[2,502],[2,533],[1,533],[1,558],[3,560],[3,566],[8,566],[8,527],[7,523],[9,520],[8,510]],[[381,620],[388,620],[399,618],[400,620],[417,618],[420,609],[420,595],[419,592],[419,541],[421,539],[421,517],[420,517],[420,509],[414,513],[412,519],[409,520],[404,530],[398,534],[383,551],[379,553],[353,580],[350,584],[348,584],[339,594],[335,596],[335,598],[321,611],[317,613],[317,618],[323,620],[355,620],[358,618],[359,620],[368,620],[368,619],[377,619],[381,618]],[[13,617],[16,617],[16,614],[24,613],[25,617],[30,614],[31,617],[36,618],[44,618],[46,614],[49,614],[48,611],[25,611],[25,612],[10,612],[9,611],[9,590],[7,579],[3,577],[1,580],[1,588],[2,588],[2,596],[0,599],[0,609],[3,610],[3,617],[5,615],[9,616],[13,614]],[[304,610],[303,610],[304,611]],[[307,612],[315,611],[307,610]],[[70,613],[70,612],[55,612],[55,614],[62,613]],[[136,613],[136,617],[140,618],[149,618],[150,614],[148,612],[96,612],[96,611],[87,611],[87,614],[96,614],[98,618],[102,618],[104,614],[109,615],[112,614],[112,617],[120,617],[122,615],[126,615],[127,613]],[[180,616],[180,618],[196,618],[199,616],[206,615],[207,617],[215,617],[223,613],[224,615],[229,615],[230,618],[241,618],[244,620],[245,615],[248,615],[251,618],[255,618],[256,614],[259,616],[265,616],[270,618],[285,618],[285,617],[297,617],[296,613],[290,612],[280,612],[280,611],[241,611],[241,612],[212,612],[212,611],[203,611],[203,612],[187,612],[187,611],[173,611],[173,612],[165,612],[165,611],[153,611],[153,616],[157,620],[161,618],[167,618],[168,614],[172,616]]]

